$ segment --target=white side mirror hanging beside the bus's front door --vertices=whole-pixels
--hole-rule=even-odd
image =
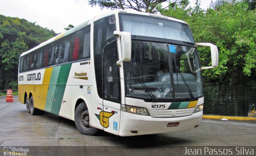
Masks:
[[[132,38],[130,32],[119,32],[114,31],[114,35],[117,39],[120,40],[118,43],[118,46],[121,46],[122,51],[122,59],[116,62],[117,65],[121,66],[121,62],[126,61],[130,62],[132,57]],[[120,45],[121,43],[121,45]]]

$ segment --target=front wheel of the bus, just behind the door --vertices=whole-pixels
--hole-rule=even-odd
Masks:
[[[90,126],[89,111],[86,107],[85,102],[82,102],[76,107],[75,111],[75,124],[76,128],[86,135],[94,135],[98,128]]]

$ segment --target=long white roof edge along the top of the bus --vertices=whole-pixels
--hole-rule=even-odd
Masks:
[[[107,12],[104,12],[102,14],[99,14],[97,16],[94,16],[93,18],[91,18],[90,20],[87,20],[86,22],[83,22],[82,24],[79,24],[78,26],[70,29],[70,30],[67,30],[65,32],[62,32],[61,34],[51,38],[51,39],[48,39],[47,41],[44,41],[43,43],[40,43],[39,45],[37,45],[36,47],[22,53],[20,56],[23,56],[23,55],[26,55],[27,53],[30,53],[31,51],[34,51],[44,45],[47,45],[49,43],[52,43],[53,41],[57,40],[57,39],[60,39],[64,36],[67,36],[69,34],[72,34],[73,32],[76,32],[86,26],[89,26],[91,24],[92,21],[97,21],[97,20],[100,20],[101,18],[104,18],[104,17],[107,17],[107,16],[110,16],[110,15],[117,15],[118,13],[127,13],[127,14],[139,14],[139,15],[146,15],[146,16],[153,16],[153,17],[158,17],[158,18],[165,18],[165,19],[168,19],[168,20],[173,20],[173,21],[177,21],[177,22],[181,22],[181,23],[184,23],[184,24],[187,24],[186,22],[182,21],[182,20],[178,20],[176,18],[171,18],[171,17],[167,17],[167,16],[161,16],[161,15],[157,15],[157,14],[150,14],[150,13],[146,13],[146,12],[138,12],[138,11],[135,11],[135,10],[110,10],[110,11],[107,11]]]

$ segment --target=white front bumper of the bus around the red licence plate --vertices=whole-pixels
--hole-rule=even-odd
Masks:
[[[203,111],[193,113],[186,117],[152,118],[150,116],[122,112],[122,123],[120,125],[119,135],[136,136],[192,130],[198,128],[202,121],[202,115]],[[178,126],[170,126],[170,123],[175,122],[176,125],[177,122],[179,122]],[[168,125],[170,127],[168,127]]]

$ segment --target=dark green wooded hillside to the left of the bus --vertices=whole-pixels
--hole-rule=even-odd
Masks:
[[[53,30],[42,28],[35,22],[0,15],[0,89],[17,82],[22,52],[56,35]]]

